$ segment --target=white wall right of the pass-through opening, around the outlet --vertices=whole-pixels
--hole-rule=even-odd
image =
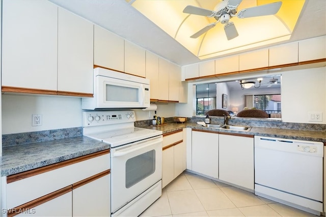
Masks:
[[[326,123],[326,67],[282,73],[284,122]],[[322,112],[322,122],[308,121],[308,112]]]

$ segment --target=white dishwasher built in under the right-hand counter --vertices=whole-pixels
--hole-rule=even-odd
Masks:
[[[323,211],[323,143],[255,136],[255,194]]]

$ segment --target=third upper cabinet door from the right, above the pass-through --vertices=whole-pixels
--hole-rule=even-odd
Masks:
[[[268,67],[268,49],[256,50],[239,55],[239,71]]]

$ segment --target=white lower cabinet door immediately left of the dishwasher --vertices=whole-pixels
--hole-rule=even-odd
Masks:
[[[254,189],[254,138],[220,134],[219,179]]]

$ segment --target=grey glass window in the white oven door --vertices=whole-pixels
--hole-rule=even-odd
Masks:
[[[155,150],[142,153],[126,162],[126,188],[155,172]]]

